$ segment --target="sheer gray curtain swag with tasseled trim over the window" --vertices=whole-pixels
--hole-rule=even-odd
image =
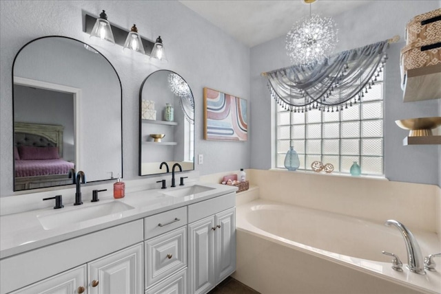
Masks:
[[[387,60],[388,41],[347,50],[311,65],[293,65],[267,73],[271,97],[294,112],[343,110],[375,84]]]

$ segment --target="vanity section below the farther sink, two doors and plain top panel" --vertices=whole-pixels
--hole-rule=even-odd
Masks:
[[[207,293],[236,271],[236,209],[234,194],[189,205],[189,293]]]

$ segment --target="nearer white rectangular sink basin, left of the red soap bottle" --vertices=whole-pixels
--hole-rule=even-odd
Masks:
[[[132,210],[133,208],[134,207],[123,202],[112,201],[103,204],[93,204],[88,207],[74,207],[74,209],[65,212],[61,209],[59,212],[40,214],[37,218],[43,226],[43,229],[48,230],[73,225],[84,220],[91,220],[101,216],[118,216],[118,214],[121,215],[121,212]]]

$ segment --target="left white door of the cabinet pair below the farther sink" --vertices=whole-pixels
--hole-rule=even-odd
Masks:
[[[206,293],[214,286],[214,217],[189,225],[189,293]]]

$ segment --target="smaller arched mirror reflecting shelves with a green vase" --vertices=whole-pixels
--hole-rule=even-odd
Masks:
[[[139,175],[179,163],[194,170],[194,98],[187,82],[168,70],[147,76],[139,93]],[[171,170],[170,170],[171,171]]]

